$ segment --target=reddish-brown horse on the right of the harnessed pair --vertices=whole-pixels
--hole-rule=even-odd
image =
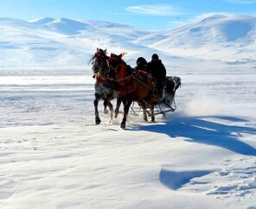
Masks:
[[[126,117],[131,106],[132,101],[138,102],[144,110],[144,119],[147,120],[145,104],[150,106],[151,122],[155,122],[154,104],[159,100],[153,94],[152,82],[143,80],[145,76],[143,72],[132,72],[131,66],[128,66],[122,60],[124,54],[111,54],[110,72],[113,77],[113,82],[118,86],[118,95],[124,105],[124,117],[121,122],[121,128],[125,128]],[[147,80],[152,80],[150,75]]]

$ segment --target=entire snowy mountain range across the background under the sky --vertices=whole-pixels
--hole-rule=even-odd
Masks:
[[[254,62],[256,18],[209,16],[181,28],[148,31],[125,24],[41,18],[22,21],[0,19],[2,69],[82,69],[95,48],[128,53],[133,65],[138,56],[163,60],[178,57]]]

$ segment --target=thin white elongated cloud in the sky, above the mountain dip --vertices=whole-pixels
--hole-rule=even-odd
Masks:
[[[176,16],[181,15],[173,6],[168,4],[148,4],[148,5],[137,5],[126,8],[127,11],[152,15],[152,16]]]

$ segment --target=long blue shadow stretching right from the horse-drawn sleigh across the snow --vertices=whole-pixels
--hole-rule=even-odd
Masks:
[[[216,118],[227,122],[246,122],[238,117],[211,116],[211,117],[173,117],[165,124],[152,124],[133,127],[136,130],[147,130],[163,133],[170,137],[185,137],[189,142],[200,142],[208,145],[228,149],[241,155],[256,155],[256,149],[246,142],[241,142],[242,134],[256,134],[256,129],[210,122],[205,118]]]

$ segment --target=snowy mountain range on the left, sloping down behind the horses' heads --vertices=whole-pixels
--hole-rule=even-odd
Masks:
[[[81,69],[96,48],[129,55],[149,51],[131,40],[150,33],[111,22],[78,22],[66,18],[42,18],[25,22],[0,19],[2,69]]]

